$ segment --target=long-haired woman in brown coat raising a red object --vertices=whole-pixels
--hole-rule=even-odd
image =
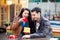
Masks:
[[[31,13],[27,8],[22,8],[20,14],[14,18],[13,25],[11,29],[13,30],[14,35],[24,35],[24,27],[31,27]]]

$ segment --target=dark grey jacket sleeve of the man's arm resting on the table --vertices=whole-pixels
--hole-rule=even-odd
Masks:
[[[47,35],[50,35],[52,32],[50,28],[50,22],[44,21],[44,26],[42,28],[42,32],[40,30],[37,33],[30,34],[31,38],[45,38]]]

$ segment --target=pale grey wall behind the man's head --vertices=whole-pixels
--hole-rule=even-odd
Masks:
[[[60,12],[60,3],[56,3],[56,10],[55,10],[55,3],[35,3],[35,2],[29,2],[28,8],[32,9],[34,7],[40,7],[42,10],[42,15],[45,13],[45,10],[50,10],[50,14],[55,14],[57,12]]]

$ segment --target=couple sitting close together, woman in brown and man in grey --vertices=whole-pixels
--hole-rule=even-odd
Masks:
[[[24,35],[24,26],[21,25],[23,19],[28,19],[28,27],[30,27],[30,34]],[[26,26],[26,25],[25,25]],[[22,34],[22,38],[51,38],[52,29],[48,19],[41,16],[41,9],[35,7],[31,10],[22,8],[19,16],[14,18],[13,25],[11,26],[15,35]]]

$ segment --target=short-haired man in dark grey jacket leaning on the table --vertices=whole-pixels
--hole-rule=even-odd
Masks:
[[[31,10],[32,21],[32,34],[24,35],[22,38],[51,38],[52,29],[48,19],[41,16],[41,9],[35,7]],[[33,25],[32,24],[32,25]]]

